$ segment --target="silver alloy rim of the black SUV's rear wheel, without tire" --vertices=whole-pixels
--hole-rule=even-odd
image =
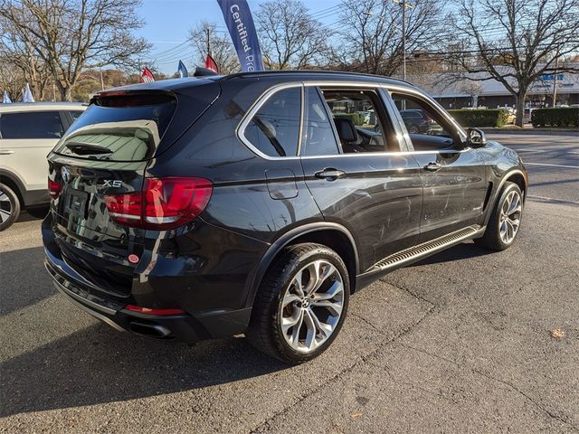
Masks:
[[[336,267],[314,260],[292,278],[281,302],[281,332],[299,353],[310,353],[334,333],[344,307],[344,281]]]

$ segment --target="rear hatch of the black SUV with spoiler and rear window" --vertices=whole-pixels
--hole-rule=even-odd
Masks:
[[[144,248],[147,230],[129,220],[119,223],[111,201],[138,199],[148,182],[147,165],[218,97],[219,85],[203,81],[193,95],[189,89],[186,94],[141,87],[103,92],[49,155],[58,250],[52,254],[90,287],[116,297],[130,294],[136,264],[150,256]]]

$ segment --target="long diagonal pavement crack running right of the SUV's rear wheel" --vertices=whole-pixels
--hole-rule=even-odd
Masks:
[[[393,285],[394,286],[394,285]],[[417,297],[418,298],[418,297]],[[430,303],[430,302],[429,302]],[[295,406],[299,405],[300,402],[308,399],[308,397],[314,395],[315,393],[319,392],[320,390],[322,390],[323,388],[327,387],[328,385],[330,385],[332,382],[336,382],[337,379],[339,377],[341,377],[344,374],[347,373],[352,373],[356,368],[358,368],[359,366],[368,363],[368,361],[375,356],[375,354],[378,354],[380,352],[380,350],[382,350],[383,348],[385,348],[386,346],[393,344],[397,339],[403,337],[403,335],[407,335],[408,333],[410,333],[415,327],[417,327],[418,325],[420,325],[422,323],[422,321],[429,316],[432,311],[434,310],[434,305],[431,303],[431,307],[428,308],[428,310],[426,310],[426,312],[424,312],[424,315],[421,316],[421,318],[416,321],[415,323],[413,323],[412,325],[407,326],[406,328],[404,328],[400,333],[398,333],[397,335],[394,335],[391,339],[385,341],[382,344],[378,344],[375,349],[373,351],[371,351],[369,354],[366,355],[362,355],[360,356],[360,360],[358,360],[356,363],[352,363],[350,366],[346,367],[345,369],[343,369],[342,371],[336,373],[334,376],[332,376],[331,378],[329,378],[327,380],[327,382],[323,382],[321,384],[318,385],[318,387],[314,388],[312,391],[308,392],[308,393],[304,393],[302,395],[299,396],[299,398],[296,401],[293,401],[292,403],[290,403],[287,407],[284,407],[283,409],[276,411],[271,418],[264,420],[263,422],[261,422],[260,425],[258,425],[256,428],[251,429],[250,432],[255,433],[255,434],[259,434],[262,432],[262,429],[264,429],[265,427],[268,427],[271,423],[272,420],[275,420],[276,418],[278,418],[279,416],[281,416],[282,414],[288,412],[289,410],[291,410],[292,408],[294,408]],[[377,331],[378,333],[382,334],[384,333],[383,330],[380,330],[378,327],[376,327],[375,325],[373,325],[370,321],[368,321],[367,319],[365,319],[362,316],[356,315],[356,314],[351,314],[348,313],[349,315],[352,316],[356,316],[356,318],[360,318],[365,324],[370,325],[375,331]]]

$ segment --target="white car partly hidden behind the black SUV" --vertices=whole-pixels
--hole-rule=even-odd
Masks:
[[[0,104],[0,231],[48,203],[46,156],[86,109],[70,102]]]

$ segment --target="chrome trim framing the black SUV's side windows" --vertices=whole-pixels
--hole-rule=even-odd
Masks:
[[[446,111],[441,107],[441,105],[435,99],[432,99],[431,97],[429,97],[427,94],[425,94],[421,90],[413,89],[412,87],[398,86],[395,84],[388,84],[388,83],[382,83],[382,82],[339,81],[339,80],[300,80],[300,81],[289,81],[286,83],[276,84],[276,85],[271,86],[271,88],[268,88],[267,90],[265,90],[261,93],[261,95],[253,103],[252,107],[243,116],[239,125],[235,128],[235,135],[237,136],[237,138],[239,138],[239,140],[242,142],[242,144],[247,146],[255,155],[261,156],[261,158],[264,158],[266,160],[296,160],[296,159],[300,159],[300,158],[308,158],[309,159],[309,158],[337,158],[337,157],[354,157],[355,158],[356,156],[413,156],[413,155],[425,155],[425,154],[440,155],[440,154],[461,154],[463,152],[470,151],[470,147],[465,147],[465,148],[456,149],[456,150],[445,150],[445,149],[432,150],[432,151],[410,150],[410,149],[413,149],[413,147],[411,147],[412,141],[410,140],[410,137],[408,136],[408,132],[406,131],[405,127],[402,124],[399,127],[401,128],[401,132],[404,136],[404,139],[407,140],[406,141],[406,148],[408,150],[405,150],[405,151],[363,152],[363,153],[350,153],[350,154],[343,154],[342,153],[342,154],[337,154],[334,156],[299,156],[299,153],[301,151],[301,140],[302,140],[302,132],[303,132],[302,128],[303,128],[303,116],[304,116],[304,107],[303,107],[304,106],[304,92],[305,92],[304,88],[306,86],[316,86],[318,88],[319,87],[325,87],[327,89],[332,89],[332,88],[336,88],[336,89],[339,89],[339,88],[366,88],[369,90],[375,90],[376,93],[378,94],[378,96],[383,99],[384,106],[386,106],[385,109],[386,109],[388,116],[391,116],[390,112],[388,111],[391,109],[391,107],[389,107],[389,103],[387,102],[388,99],[384,100],[383,96],[380,95],[380,90],[384,90],[389,99],[392,98],[391,93],[393,91],[394,91],[394,93],[395,92],[409,93],[409,94],[412,94],[413,96],[416,96],[420,99],[426,100],[426,102],[428,102],[430,105],[432,105],[433,108],[436,109],[437,112],[440,113],[441,117],[445,118],[453,127],[456,127],[458,134],[462,140],[466,140],[466,138],[467,138],[466,132],[462,129],[462,127],[460,127],[460,125],[454,120],[454,118],[451,118],[451,116],[446,113]],[[299,137],[298,137],[298,155],[297,156],[268,156],[268,155],[262,153],[256,146],[253,146],[252,142],[250,142],[249,139],[247,137],[245,137],[245,135],[244,135],[245,128],[249,125],[249,123],[251,122],[255,113],[257,113],[259,111],[259,109],[261,109],[261,106],[263,104],[265,104],[265,102],[268,99],[270,99],[272,95],[274,95],[276,92],[278,92],[280,90],[286,90],[286,89],[297,88],[297,87],[302,88],[302,90],[301,90],[301,103],[300,103],[301,109],[300,109],[300,114],[299,114],[300,125],[299,125]],[[400,115],[398,114],[396,116],[400,116]],[[393,119],[393,121],[394,121],[394,119]],[[400,121],[398,121],[398,123],[400,124]]]

